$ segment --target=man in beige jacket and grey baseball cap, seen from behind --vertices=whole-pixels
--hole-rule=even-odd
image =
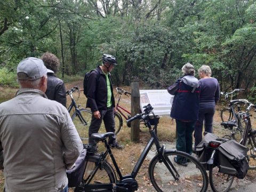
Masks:
[[[17,67],[21,89],[0,104],[0,147],[6,192],[68,191],[66,169],[83,144],[68,111],[47,99],[47,70],[41,59]]]

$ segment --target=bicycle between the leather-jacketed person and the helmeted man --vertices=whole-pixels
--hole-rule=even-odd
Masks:
[[[84,109],[84,108],[79,108],[80,105],[76,104],[75,99],[73,98],[73,92],[78,91],[78,98],[80,96],[80,91],[77,86],[74,86],[72,89],[68,90],[66,92],[66,95],[69,95],[71,98],[71,103],[68,107],[68,112],[75,108],[75,111],[73,115],[71,115],[71,119],[76,127],[76,130],[79,134],[79,137],[81,138],[82,141],[85,141],[89,137],[89,126],[91,123],[91,118],[92,118],[92,113],[90,110]]]

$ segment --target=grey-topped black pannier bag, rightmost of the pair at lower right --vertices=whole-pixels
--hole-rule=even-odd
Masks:
[[[243,179],[248,171],[247,151],[247,147],[235,140],[222,143],[218,153],[220,172]]]

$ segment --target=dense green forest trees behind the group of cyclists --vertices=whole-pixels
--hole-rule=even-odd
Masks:
[[[256,101],[255,21],[252,0],[0,1],[0,85],[17,86],[19,61],[46,51],[62,79],[81,79],[107,53],[116,85],[166,89],[190,62],[209,65],[221,91]]]

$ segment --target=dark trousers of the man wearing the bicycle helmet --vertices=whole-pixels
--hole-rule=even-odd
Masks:
[[[100,125],[104,122],[105,128],[107,132],[115,133],[115,120],[114,120],[114,108],[108,110],[101,110],[100,111],[100,119],[97,119],[92,114],[92,121],[89,127],[89,143],[95,143],[91,139],[92,133],[98,133],[100,129]],[[116,140],[116,135],[108,138],[108,143],[113,143]]]

